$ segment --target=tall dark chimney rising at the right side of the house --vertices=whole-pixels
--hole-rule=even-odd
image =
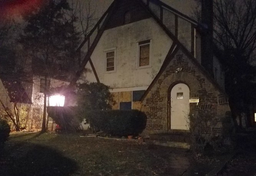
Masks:
[[[201,64],[213,76],[213,0],[201,0]]]

